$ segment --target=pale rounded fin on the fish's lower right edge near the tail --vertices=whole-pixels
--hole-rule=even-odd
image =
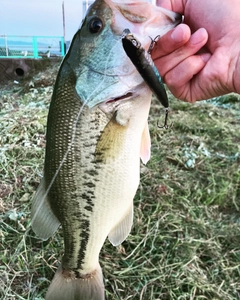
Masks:
[[[110,231],[109,241],[113,246],[120,245],[129,235],[133,224],[133,205],[131,205],[126,216]]]

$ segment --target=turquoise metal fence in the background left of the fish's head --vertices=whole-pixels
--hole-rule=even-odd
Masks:
[[[63,36],[0,35],[0,58],[43,58],[65,55]]]

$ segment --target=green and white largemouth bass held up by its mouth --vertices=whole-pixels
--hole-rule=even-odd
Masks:
[[[49,239],[62,226],[64,254],[46,300],[103,300],[99,253],[133,224],[140,158],[150,159],[152,92],[122,47],[124,28],[147,49],[179,15],[147,1],[96,0],[57,74],[47,118],[43,177],[31,226]]]

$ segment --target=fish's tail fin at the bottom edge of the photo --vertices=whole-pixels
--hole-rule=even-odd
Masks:
[[[60,266],[47,291],[46,300],[104,300],[104,284],[100,265],[85,278],[71,278]]]

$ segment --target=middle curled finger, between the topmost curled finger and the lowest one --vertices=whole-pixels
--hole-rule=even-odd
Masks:
[[[174,52],[155,60],[162,77],[167,72],[174,69],[182,61],[196,54],[207,42],[208,35],[204,28],[197,30],[182,47],[179,47]]]

